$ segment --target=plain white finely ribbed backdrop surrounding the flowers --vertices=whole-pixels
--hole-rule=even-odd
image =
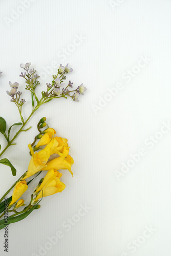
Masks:
[[[39,210],[9,226],[8,255],[170,255],[171,130],[162,130],[163,123],[171,122],[170,0],[36,0],[21,8],[23,2],[0,3],[1,116],[7,126],[20,121],[6,94],[9,80],[19,82],[27,100],[24,117],[31,112],[30,95],[18,76],[20,63],[32,62],[38,74],[47,76],[39,95],[56,73],[52,68],[45,73],[52,61],[69,62],[73,73],[67,80],[75,87],[83,83],[87,92],[79,102],[57,99],[42,106],[28,123],[32,129],[4,154],[17,167],[17,176],[1,166],[1,195],[27,169],[27,145],[46,116],[57,136],[68,138],[75,161],[74,178],[62,171],[62,193],[44,198]],[[148,59],[145,65],[142,57]],[[109,96],[108,89],[118,82],[122,89]],[[129,161],[140,148],[145,155]],[[127,162],[132,167],[123,173]],[[89,210],[67,231],[62,223],[76,218],[80,205]],[[40,250],[59,230],[63,237],[57,244]],[[4,230],[0,241],[0,253],[6,255]]]

